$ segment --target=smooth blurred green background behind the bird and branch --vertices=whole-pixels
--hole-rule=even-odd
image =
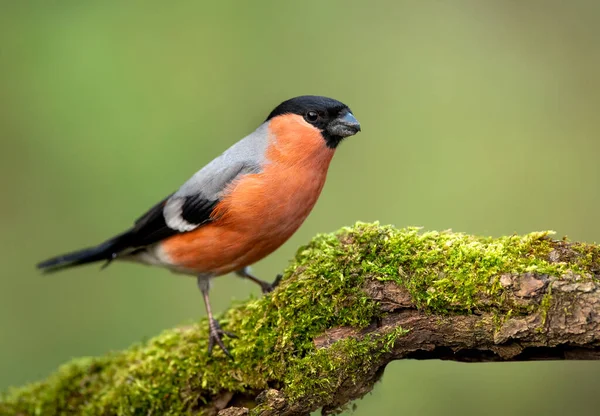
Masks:
[[[357,220],[600,240],[595,1],[3,2],[0,389],[204,314],[193,280],[34,264],[128,227],[279,102],[363,132],[254,271]],[[215,309],[258,296],[233,276]],[[392,363],[356,415],[597,415],[600,363]]]

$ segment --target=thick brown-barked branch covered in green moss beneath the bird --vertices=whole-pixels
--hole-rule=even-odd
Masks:
[[[270,295],[207,323],[78,359],[13,389],[2,415],[333,412],[402,358],[600,358],[600,248],[357,224],[302,247]],[[250,410],[249,410],[250,409]]]

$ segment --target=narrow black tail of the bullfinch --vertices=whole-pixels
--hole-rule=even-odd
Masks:
[[[97,261],[111,262],[117,257],[118,253],[125,248],[123,246],[123,240],[126,234],[127,233],[118,235],[96,247],[84,248],[83,250],[53,257],[38,263],[37,268],[43,270],[44,273],[53,273]]]

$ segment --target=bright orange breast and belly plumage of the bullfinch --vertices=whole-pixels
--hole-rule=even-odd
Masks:
[[[269,130],[263,171],[230,185],[213,222],[162,243],[173,265],[198,273],[229,273],[276,250],[304,222],[325,184],[333,149],[300,116],[277,117]]]

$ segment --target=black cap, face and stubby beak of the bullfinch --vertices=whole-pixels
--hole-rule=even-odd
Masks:
[[[279,104],[266,121],[283,114],[297,114],[321,130],[328,147],[335,148],[340,142],[360,131],[360,123],[350,108],[333,98],[303,95]]]

